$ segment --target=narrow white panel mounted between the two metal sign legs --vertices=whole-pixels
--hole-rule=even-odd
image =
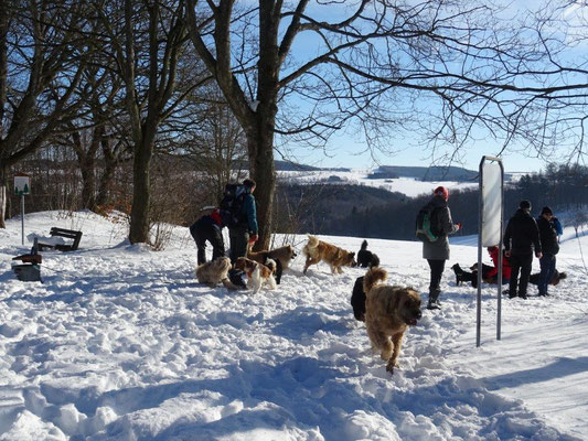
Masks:
[[[482,164],[482,246],[500,245],[502,228],[502,169],[498,161]]]

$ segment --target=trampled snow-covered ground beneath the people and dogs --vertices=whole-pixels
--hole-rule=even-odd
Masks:
[[[0,440],[588,439],[588,237],[570,229],[558,256],[568,279],[548,298],[503,299],[501,341],[495,287],[484,287],[479,348],[475,291],[449,269],[477,259],[475,238],[456,238],[442,310],[424,311],[391,376],[353,319],[361,269],[303,276],[298,256],[276,291],[211,289],[194,279],[186,228],[156,252],[128,245],[121,223],[50,212],[26,215],[26,234],[82,229],[81,249],[43,252],[44,283],[21,282],[11,258],[30,244],[20,219],[7,224]],[[427,291],[419,243],[368,248],[392,283]]]

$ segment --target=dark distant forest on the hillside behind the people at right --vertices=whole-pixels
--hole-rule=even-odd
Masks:
[[[449,196],[453,222],[463,224],[462,235],[478,233],[478,190],[467,190],[452,192]],[[276,202],[277,230],[414,239],[416,214],[429,198],[406,197],[366,185],[281,183]],[[545,205],[556,215],[558,212],[586,213],[588,168],[549,165],[544,172],[523,175],[516,183],[505,186],[505,223],[521,200],[531,201],[534,216]]]

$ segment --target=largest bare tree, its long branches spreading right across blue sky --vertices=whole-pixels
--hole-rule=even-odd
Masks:
[[[247,138],[258,247],[271,228],[276,136],[324,146],[355,122],[370,148],[423,133],[451,160],[475,135],[537,142],[542,116],[586,96],[573,69],[555,68],[560,41],[501,23],[488,2],[186,2],[194,50]]]

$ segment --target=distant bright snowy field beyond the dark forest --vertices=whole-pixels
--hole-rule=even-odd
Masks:
[[[373,170],[352,169],[350,171],[279,171],[279,179],[287,180],[298,184],[316,184],[317,182],[333,183],[333,180],[342,184],[367,185],[387,190],[388,192],[398,192],[408,197],[416,197],[423,194],[429,195],[438,185],[443,185],[449,191],[453,189],[478,189],[478,182],[463,183],[455,181],[435,181],[426,182],[414,178],[395,178],[395,179],[368,179],[367,175]],[[334,183],[336,183],[334,182]]]

